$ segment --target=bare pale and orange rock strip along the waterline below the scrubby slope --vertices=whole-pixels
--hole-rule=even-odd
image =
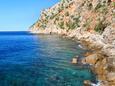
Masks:
[[[107,28],[108,29],[108,28]],[[106,31],[106,29],[105,29]],[[97,78],[99,80],[99,86],[112,86],[114,85],[114,70],[108,71],[108,68],[111,66],[108,63],[109,58],[114,56],[115,48],[109,48],[109,43],[105,43],[103,35],[97,33],[90,33],[87,31],[83,31],[81,28],[75,30],[63,30],[63,29],[39,29],[37,31],[30,31],[34,34],[59,34],[65,37],[69,37],[74,39],[75,41],[79,41],[88,49],[92,50],[93,53],[87,55],[82,63],[88,63],[93,65],[92,71],[96,73]],[[114,45],[113,45],[114,46]],[[112,49],[112,50],[111,50]],[[112,65],[114,68],[114,65]],[[110,75],[113,75],[110,77]],[[111,80],[112,78],[112,80]]]

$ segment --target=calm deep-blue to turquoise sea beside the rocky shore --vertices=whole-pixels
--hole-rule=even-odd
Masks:
[[[0,32],[0,86],[83,86],[95,76],[71,59],[85,52],[57,35]]]

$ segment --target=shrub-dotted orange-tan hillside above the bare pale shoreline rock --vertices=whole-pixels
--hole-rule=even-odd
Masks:
[[[51,25],[59,29],[77,29],[102,32],[115,21],[110,0],[61,0],[42,12],[31,30],[47,29]]]

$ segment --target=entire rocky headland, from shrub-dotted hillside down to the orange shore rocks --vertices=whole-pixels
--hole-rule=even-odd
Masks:
[[[30,31],[80,40],[94,50],[83,62],[94,65],[100,86],[115,86],[115,0],[61,0]]]

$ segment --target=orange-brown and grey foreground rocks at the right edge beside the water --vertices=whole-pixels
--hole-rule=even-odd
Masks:
[[[115,85],[115,45],[113,44],[114,34],[111,34],[114,33],[114,31],[115,29],[110,28],[110,26],[109,28],[107,27],[101,35],[104,45],[99,48],[99,50],[94,48],[93,54],[83,59],[83,63],[93,65],[92,70],[95,71],[98,79],[101,80],[100,86]],[[105,36],[106,38],[104,38]]]

